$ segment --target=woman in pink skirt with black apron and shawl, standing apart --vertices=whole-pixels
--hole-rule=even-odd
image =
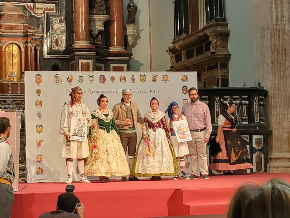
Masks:
[[[234,115],[234,103],[227,103],[225,109],[226,111],[218,117],[218,135],[215,139],[222,151],[211,158],[209,169],[231,175],[231,170],[250,169],[253,165],[244,140],[236,132],[237,117]]]

